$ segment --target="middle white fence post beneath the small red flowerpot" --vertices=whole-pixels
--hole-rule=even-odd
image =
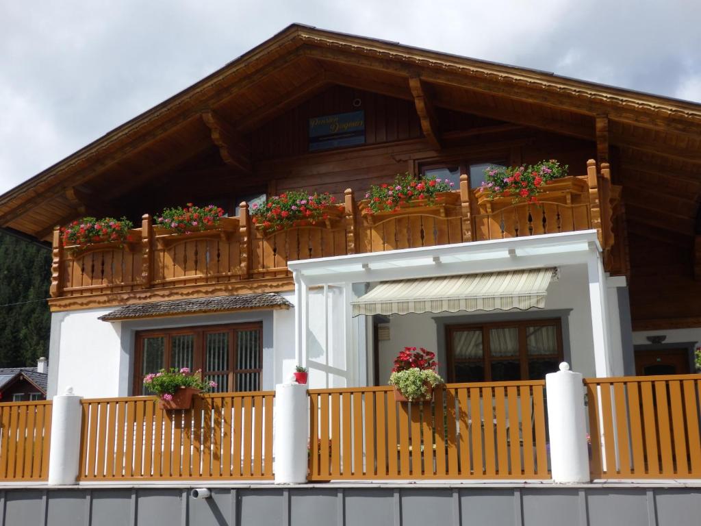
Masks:
[[[275,484],[307,481],[309,403],[306,384],[275,386]]]

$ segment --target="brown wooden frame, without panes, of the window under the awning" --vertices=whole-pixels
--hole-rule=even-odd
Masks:
[[[445,343],[446,357],[448,367],[448,382],[455,382],[455,364],[458,363],[482,363],[484,367],[484,378],[482,382],[491,382],[491,364],[496,361],[505,361],[499,358],[491,358],[491,348],[489,346],[489,331],[496,328],[513,328],[516,327],[519,333],[519,367],[521,381],[529,380],[529,354],[528,354],[528,338],[526,328],[533,326],[554,325],[555,339],[557,342],[557,354],[540,354],[534,355],[537,358],[556,358],[559,362],[564,359],[564,349],[562,343],[562,320],[560,318],[543,318],[537,320],[512,320],[512,321],[496,321],[486,323],[458,323],[445,326]],[[482,330],[482,358],[455,358],[453,349],[453,333],[464,330]],[[485,344],[486,342],[486,344]],[[513,358],[516,358],[515,356]]]

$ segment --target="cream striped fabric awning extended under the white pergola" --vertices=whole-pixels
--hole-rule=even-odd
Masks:
[[[554,271],[527,269],[386,281],[352,302],[353,316],[543,309]]]

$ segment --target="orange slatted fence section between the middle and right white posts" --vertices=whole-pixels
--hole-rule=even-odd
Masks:
[[[550,478],[544,387],[448,384],[411,404],[389,387],[311,389],[309,480]]]

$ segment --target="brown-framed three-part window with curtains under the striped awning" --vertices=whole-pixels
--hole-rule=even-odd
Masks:
[[[451,382],[543,379],[562,361],[559,320],[448,325]]]

